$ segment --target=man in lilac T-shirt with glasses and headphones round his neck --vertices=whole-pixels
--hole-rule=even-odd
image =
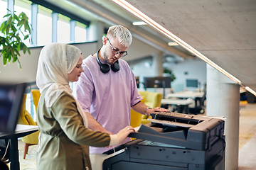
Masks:
[[[85,72],[75,84],[75,96],[87,115],[89,128],[116,134],[129,125],[130,108],[149,115],[164,108],[149,108],[140,102],[132,69],[121,57],[127,55],[132,34],[123,26],[111,26],[102,40],[102,47],[83,63]],[[110,69],[111,68],[111,69]],[[127,138],[125,142],[129,142]],[[116,146],[113,146],[116,147]],[[90,147],[92,169],[100,169],[103,152],[111,149]]]

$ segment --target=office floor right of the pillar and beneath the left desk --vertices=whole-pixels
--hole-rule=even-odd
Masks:
[[[256,169],[256,103],[240,108],[239,162],[238,170]],[[30,146],[23,159],[24,143],[18,141],[21,170],[36,169],[37,145]]]

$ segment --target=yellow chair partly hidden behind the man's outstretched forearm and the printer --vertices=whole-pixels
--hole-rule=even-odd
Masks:
[[[139,91],[141,96],[145,97],[145,105],[151,108],[161,107],[161,99],[163,98],[163,94],[151,91]],[[142,115],[142,124],[150,123],[148,118],[151,116]]]

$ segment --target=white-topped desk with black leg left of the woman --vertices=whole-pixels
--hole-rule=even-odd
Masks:
[[[19,170],[20,165],[18,161],[18,137],[24,137],[33,132],[38,131],[38,126],[33,125],[16,125],[16,130],[14,134],[0,133],[0,139],[7,139],[11,142],[11,170]]]

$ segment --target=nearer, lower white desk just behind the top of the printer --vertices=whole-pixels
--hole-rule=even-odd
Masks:
[[[188,105],[193,103],[194,101],[188,98],[187,100],[181,100],[181,99],[166,99],[163,98],[161,99],[161,104],[166,104],[166,105],[176,105],[178,113],[188,113]]]

